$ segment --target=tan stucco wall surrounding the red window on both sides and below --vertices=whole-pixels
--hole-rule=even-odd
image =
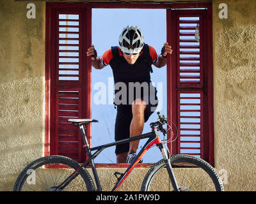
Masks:
[[[0,191],[44,151],[45,3],[34,2],[36,19],[26,18],[28,3],[0,1]],[[227,191],[256,190],[255,8],[254,0],[213,1],[214,159],[227,170]],[[147,170],[134,170],[120,191],[140,190]],[[104,190],[115,171],[99,170]]]

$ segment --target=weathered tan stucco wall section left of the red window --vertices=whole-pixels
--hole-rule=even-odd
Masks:
[[[45,3],[0,1],[0,191],[44,145]]]

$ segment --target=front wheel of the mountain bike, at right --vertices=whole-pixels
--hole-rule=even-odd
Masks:
[[[218,173],[203,159],[177,154],[170,157],[170,163],[180,191],[224,191]],[[205,186],[200,186],[200,182]],[[164,159],[148,170],[141,191],[174,191]]]

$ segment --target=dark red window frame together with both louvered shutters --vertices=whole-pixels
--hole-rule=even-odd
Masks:
[[[212,10],[208,3],[47,3],[45,155],[86,159],[80,133],[67,119],[91,118],[91,62],[82,56],[92,40],[92,7],[166,9],[167,41],[173,48],[166,70],[167,116],[178,128],[178,138],[168,148],[172,154],[191,154],[214,164]],[[91,143],[90,125],[86,135]]]

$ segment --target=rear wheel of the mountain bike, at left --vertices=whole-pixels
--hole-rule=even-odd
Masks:
[[[69,157],[41,157],[22,170],[17,177],[13,191],[54,191],[54,187],[60,185],[79,167],[80,164]],[[57,173],[58,175],[55,175]],[[78,174],[63,191],[95,191],[90,173],[85,168],[81,168]]]

